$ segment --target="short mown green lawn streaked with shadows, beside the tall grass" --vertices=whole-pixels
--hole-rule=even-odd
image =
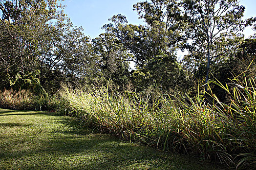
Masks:
[[[92,133],[70,117],[0,109],[0,169],[220,170],[220,167]]]

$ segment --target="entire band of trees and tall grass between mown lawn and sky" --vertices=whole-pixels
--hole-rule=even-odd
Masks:
[[[126,140],[253,169],[256,34],[242,31],[256,30],[256,17],[242,19],[238,0],[133,8],[145,25],[118,14],[91,39],[57,0],[0,0],[0,107],[59,110]]]

